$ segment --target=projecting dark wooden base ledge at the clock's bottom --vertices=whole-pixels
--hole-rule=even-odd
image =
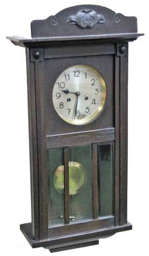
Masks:
[[[21,224],[20,229],[32,248],[44,247],[49,249],[50,252],[58,252],[67,249],[97,245],[98,239],[109,237],[117,232],[131,230],[132,224],[127,222],[125,225],[117,225],[98,230],[91,230],[85,233],[58,236],[44,240],[34,240],[32,235],[32,223]]]

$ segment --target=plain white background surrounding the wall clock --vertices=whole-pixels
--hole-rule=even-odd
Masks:
[[[99,246],[74,249],[54,255],[149,255],[149,38],[148,1],[1,1],[0,117],[1,117],[1,255],[49,255],[44,248],[32,249],[19,224],[30,222],[30,174],[26,56],[7,35],[30,37],[30,21],[45,19],[78,4],[103,5],[138,18],[138,32],[129,43],[128,122],[128,221],[132,231],[100,240]]]

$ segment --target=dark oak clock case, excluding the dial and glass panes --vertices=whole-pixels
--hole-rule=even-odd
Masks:
[[[32,21],[32,39],[8,37],[26,47],[32,223],[20,228],[32,247],[51,252],[98,243],[127,222],[127,80],[128,41],[137,39],[136,17],[115,14],[97,5],[79,5],[46,20]],[[107,84],[102,114],[89,124],[62,120],[52,104],[53,84],[72,65],[86,64],[100,71]],[[98,219],[97,143],[113,143],[113,216]],[[69,147],[92,144],[92,211],[94,219],[69,224]],[[47,149],[64,148],[65,225],[48,228]]]

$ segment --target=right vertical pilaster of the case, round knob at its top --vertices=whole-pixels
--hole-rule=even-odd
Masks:
[[[121,47],[126,47],[121,52]],[[115,225],[127,223],[128,42],[115,44]]]

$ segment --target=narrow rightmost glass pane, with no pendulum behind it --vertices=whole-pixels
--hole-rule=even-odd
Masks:
[[[99,216],[113,215],[113,154],[112,145],[98,145]]]

